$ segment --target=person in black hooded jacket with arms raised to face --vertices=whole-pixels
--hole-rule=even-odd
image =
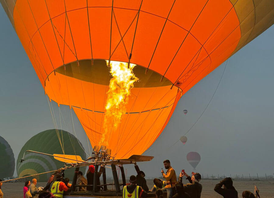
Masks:
[[[223,188],[222,188],[223,187]],[[214,190],[222,195],[224,198],[237,198],[238,192],[233,186],[233,181],[230,177],[227,177],[216,184]]]

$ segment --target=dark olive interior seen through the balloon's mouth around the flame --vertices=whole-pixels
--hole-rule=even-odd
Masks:
[[[163,87],[171,86],[172,83],[153,70],[136,65],[132,69],[134,75],[139,79],[134,87]],[[85,59],[71,62],[58,67],[55,72],[78,80],[109,85],[112,78],[107,61],[103,59]],[[51,75],[53,72],[51,73]],[[50,78],[50,76],[49,76]]]

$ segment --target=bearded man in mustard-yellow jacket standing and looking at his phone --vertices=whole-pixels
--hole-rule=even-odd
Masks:
[[[161,171],[163,178],[167,180],[167,186],[162,188],[162,190],[167,190],[167,198],[171,198],[173,196],[173,189],[175,188],[175,184],[177,182],[176,180],[176,174],[175,170],[170,166],[170,161],[165,160],[163,161],[165,169],[167,169],[167,174],[164,173],[163,169]]]

